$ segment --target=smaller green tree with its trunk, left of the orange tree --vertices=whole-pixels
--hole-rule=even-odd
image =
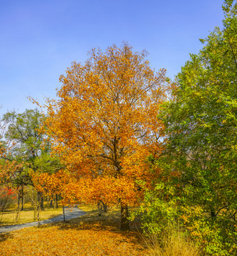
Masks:
[[[35,110],[26,110],[18,114],[15,111],[4,114],[3,121],[7,124],[5,138],[14,142],[9,158],[22,162],[21,168],[18,168],[13,183],[19,189],[19,200],[22,199],[21,209],[23,210],[23,188],[26,185],[33,186],[29,172],[46,171],[51,167],[53,159],[50,159],[50,144],[47,142],[45,134],[40,132],[40,124],[43,121],[43,114]],[[44,142],[44,147],[42,146]],[[44,162],[44,164],[43,164]],[[47,166],[47,168],[46,168]],[[40,198],[40,195],[38,195]],[[42,197],[41,197],[42,198]],[[41,199],[41,208],[43,201]]]

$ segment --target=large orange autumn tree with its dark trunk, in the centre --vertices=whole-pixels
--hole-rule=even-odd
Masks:
[[[136,181],[149,186],[154,174],[145,160],[161,149],[156,113],[166,99],[165,70],[155,73],[147,53],[127,43],[89,55],[60,77],[58,99],[45,105],[45,124],[55,153],[77,179],[75,196],[119,201],[121,229],[127,230],[128,205],[141,194]]]

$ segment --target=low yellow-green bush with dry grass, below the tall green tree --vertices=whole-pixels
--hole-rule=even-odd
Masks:
[[[146,241],[153,251],[151,255],[175,255],[172,251],[186,255],[179,254],[186,251],[178,253],[182,247],[187,252],[189,247],[190,250],[199,247],[198,255],[237,255],[235,221],[226,218],[224,213],[211,218],[202,206],[191,206],[187,202],[185,194],[177,196],[175,186],[170,184],[159,183],[153,191],[146,191],[145,201],[134,215],[140,215]]]

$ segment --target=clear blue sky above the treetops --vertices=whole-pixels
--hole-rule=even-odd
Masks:
[[[1,110],[55,97],[58,79],[92,48],[128,41],[170,78],[222,26],[222,0],[0,0]]]

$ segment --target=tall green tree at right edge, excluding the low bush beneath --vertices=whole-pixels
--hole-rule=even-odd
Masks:
[[[165,163],[170,163],[164,176],[176,184],[175,195],[186,206],[202,207],[206,223],[215,226],[221,242],[210,250],[233,255],[223,246],[236,250],[236,1],[225,1],[223,9],[224,28],[215,28],[201,40],[199,54],[190,55],[177,75],[174,100],[163,105],[160,118],[167,132]]]

